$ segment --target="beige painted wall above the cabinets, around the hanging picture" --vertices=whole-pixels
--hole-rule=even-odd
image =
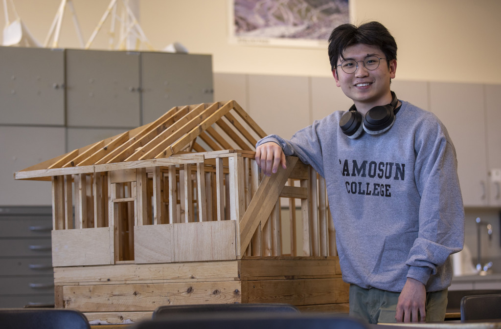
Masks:
[[[156,49],[181,42],[192,53],[212,54],[215,73],[330,76],[324,49],[253,47],[228,43],[228,0],[129,0]],[[139,6],[137,6],[137,2]],[[60,0],[14,0],[19,15],[43,43]],[[104,14],[107,0],[73,0],[88,39]],[[354,23],[378,20],[399,47],[397,79],[501,83],[501,1],[497,0],[350,0]],[[4,26],[1,8],[0,26]],[[108,47],[109,23],[92,48]],[[70,12],[60,47],[80,47]],[[480,60],[481,64],[474,64]]]

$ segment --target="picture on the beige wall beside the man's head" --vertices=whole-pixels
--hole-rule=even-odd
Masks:
[[[349,0],[228,0],[229,40],[256,46],[325,47],[349,23]]]

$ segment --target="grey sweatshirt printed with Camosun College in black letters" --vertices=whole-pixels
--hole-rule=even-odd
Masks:
[[[326,179],[343,280],[402,290],[407,277],[426,291],[450,285],[449,255],[462,249],[464,209],[454,146],[431,112],[408,102],[393,127],[349,139],[336,111],[291,140],[270,135]]]

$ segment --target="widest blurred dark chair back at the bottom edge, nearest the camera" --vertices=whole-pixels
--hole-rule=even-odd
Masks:
[[[214,312],[172,314],[146,320],[134,329],[367,329],[355,318],[315,313]]]

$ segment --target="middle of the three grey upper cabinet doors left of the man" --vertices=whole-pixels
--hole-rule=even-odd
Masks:
[[[140,53],[66,51],[69,127],[140,125]]]

